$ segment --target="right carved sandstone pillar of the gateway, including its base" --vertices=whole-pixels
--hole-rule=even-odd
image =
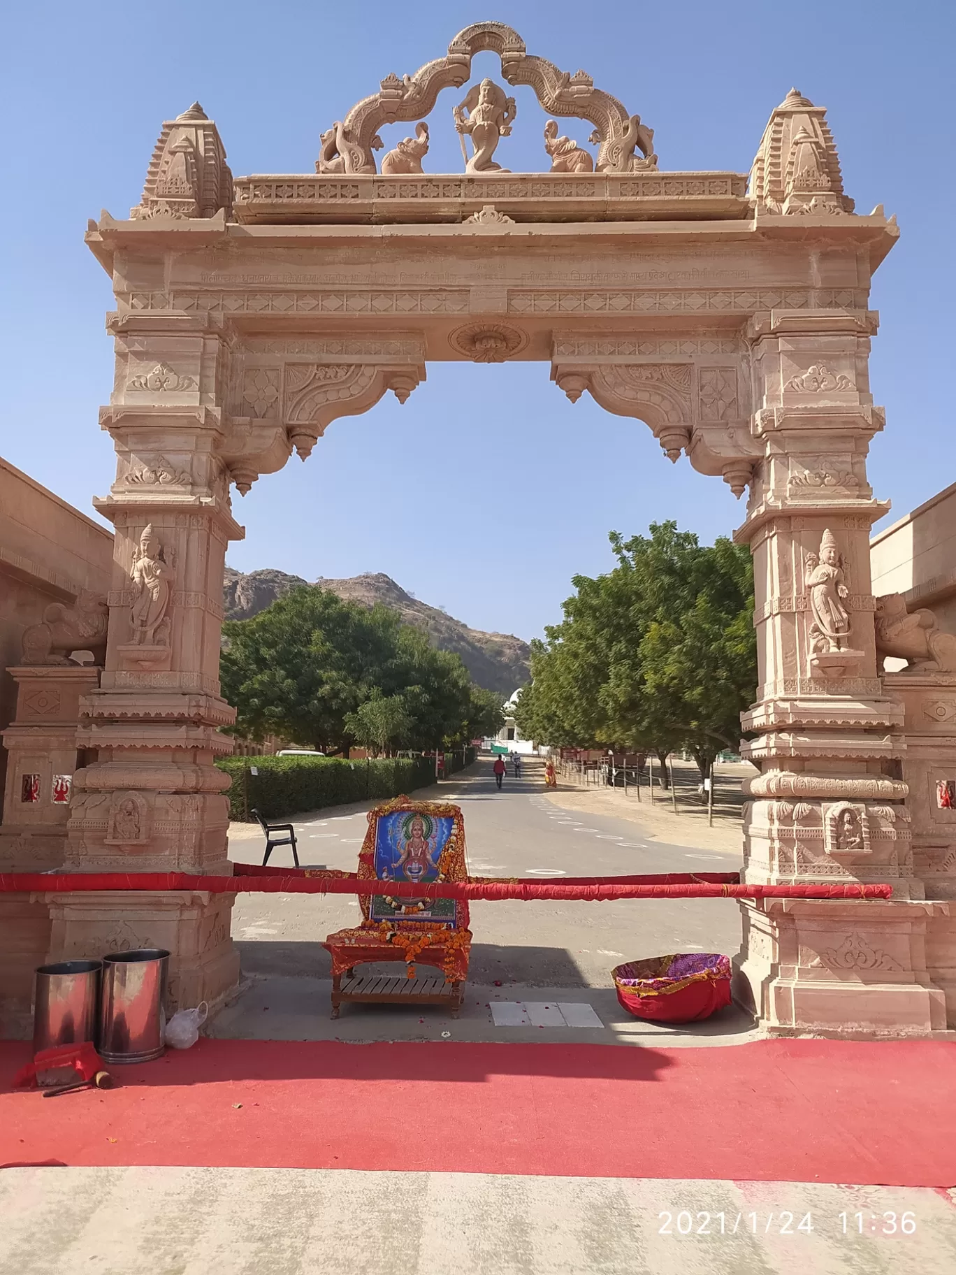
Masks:
[[[757,703],[744,747],[761,774],[744,812],[744,880],[890,881],[887,903],[742,905],[737,993],[771,1031],[934,1034],[914,873],[902,711],[877,674],[865,454],[882,427],[859,314],[778,311],[751,325],[765,448],[737,538],[755,565]]]

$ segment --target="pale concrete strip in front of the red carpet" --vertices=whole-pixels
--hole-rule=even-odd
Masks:
[[[896,1233],[883,1234],[894,1225],[890,1214]],[[911,1234],[900,1232],[904,1214]],[[956,1270],[953,1192],[918,1188],[349,1169],[11,1168],[0,1174],[0,1216],[3,1275]]]

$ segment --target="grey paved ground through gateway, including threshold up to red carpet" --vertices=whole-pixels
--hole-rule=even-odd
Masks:
[[[701,850],[648,841],[639,824],[561,810],[544,794],[540,768],[509,776],[497,792],[488,761],[421,793],[461,806],[469,870],[487,876],[619,876],[639,872],[735,871],[738,852]],[[363,810],[319,811],[294,822],[303,864],[353,871],[367,826]],[[261,862],[263,836],[236,827],[233,862]],[[279,856],[286,856],[279,858]],[[288,850],[273,861],[291,862]],[[345,895],[240,895],[232,933],[243,973],[240,996],[210,1024],[208,1034],[268,1039],[433,1039],[451,1030],[456,1039],[580,1039],[640,1044],[660,1039],[701,1043],[750,1038],[750,1023],[727,1010],[688,1029],[639,1026],[617,1005],[611,970],[623,960],[676,951],[733,955],[741,940],[732,899],[619,900],[613,903],[475,903],[472,905],[472,963],[465,1011],[453,1023],[440,1010],[409,1012],[345,1006],[329,1019],[329,956],[321,941],[359,919],[358,903]],[[396,974],[402,966],[366,966]],[[500,986],[496,986],[500,984]],[[603,994],[600,994],[603,993]],[[605,1024],[602,1031],[496,1028],[493,1000],[589,1001]]]

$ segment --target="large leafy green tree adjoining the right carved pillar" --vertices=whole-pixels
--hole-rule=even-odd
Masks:
[[[614,570],[575,576],[563,621],[533,644],[518,723],[548,743],[662,760],[686,746],[706,774],[737,746],[756,687],[750,553],[725,538],[701,546],[676,523],[611,544]]]

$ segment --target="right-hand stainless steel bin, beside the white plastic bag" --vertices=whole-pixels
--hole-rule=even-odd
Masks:
[[[168,964],[162,947],[103,956],[97,1047],[105,1062],[148,1062],[163,1052]]]

